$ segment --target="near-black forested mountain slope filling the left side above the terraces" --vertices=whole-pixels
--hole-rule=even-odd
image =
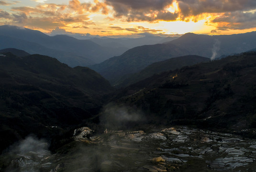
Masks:
[[[38,54],[5,55],[0,56],[1,150],[28,134],[49,139],[92,118],[112,91],[87,67],[71,68]]]

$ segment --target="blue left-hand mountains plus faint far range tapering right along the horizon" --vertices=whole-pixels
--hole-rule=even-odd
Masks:
[[[124,53],[131,47],[154,44],[164,39],[167,38],[151,36],[138,39],[79,40],[67,35],[48,36],[36,30],[17,26],[0,26],[0,49],[17,48],[30,54],[44,54],[72,67],[98,64]],[[172,39],[175,38],[168,40]]]

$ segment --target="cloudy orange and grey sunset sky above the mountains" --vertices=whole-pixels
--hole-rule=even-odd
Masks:
[[[0,25],[45,33],[168,36],[256,31],[256,0],[0,0]]]

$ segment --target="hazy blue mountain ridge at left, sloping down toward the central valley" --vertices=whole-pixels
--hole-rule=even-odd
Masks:
[[[0,49],[18,48],[30,54],[50,55],[71,66],[74,66],[74,64],[85,66],[100,63],[114,55],[123,53],[123,51],[119,52],[116,49],[102,47],[89,40],[78,40],[66,35],[48,36],[39,31],[9,25],[0,26],[0,36],[2,38],[0,39]],[[17,39],[19,41],[15,42]],[[6,44],[6,42],[9,44]],[[28,42],[34,43],[37,48],[27,45]],[[39,52],[38,49],[41,51]],[[35,52],[32,52],[32,50]],[[66,58],[65,61],[62,61],[63,55]],[[73,61],[73,64],[70,64],[71,61]]]

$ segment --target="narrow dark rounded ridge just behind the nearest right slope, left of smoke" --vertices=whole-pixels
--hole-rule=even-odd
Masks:
[[[181,57],[174,57],[165,61],[156,62],[148,65],[139,73],[131,75],[129,78],[122,81],[119,87],[129,86],[154,74],[164,71],[175,70],[183,66],[198,64],[200,62],[209,62],[210,59],[198,55],[186,55]]]

